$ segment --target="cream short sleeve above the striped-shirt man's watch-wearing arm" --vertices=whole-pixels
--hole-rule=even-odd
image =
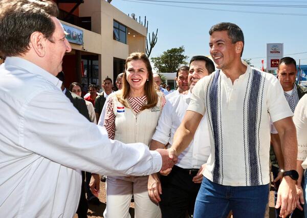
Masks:
[[[273,123],[279,121],[283,118],[293,116],[292,110],[284,97],[283,89],[273,75],[269,78],[269,87],[268,87],[268,98],[267,105],[270,117],[272,118]]]

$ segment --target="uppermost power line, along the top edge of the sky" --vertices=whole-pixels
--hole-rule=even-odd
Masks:
[[[187,2],[170,0],[136,0],[138,2],[160,2],[160,3],[180,3],[180,4],[200,4],[200,5],[227,5],[227,6],[247,6],[247,7],[277,7],[277,8],[307,8],[307,5],[272,5],[272,4],[243,4],[243,3],[216,3],[216,2]]]

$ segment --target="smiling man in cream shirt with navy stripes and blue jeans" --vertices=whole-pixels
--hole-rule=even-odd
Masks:
[[[297,141],[292,111],[272,74],[246,66],[243,31],[235,24],[211,27],[210,54],[218,70],[193,88],[191,102],[174,135],[170,157],[190,143],[205,112],[211,154],[196,198],[194,218],[264,217],[269,194],[269,116],[280,132],[284,176],[276,208],[286,217],[296,207]],[[293,171],[292,171],[293,170]],[[296,172],[296,173],[295,173]]]

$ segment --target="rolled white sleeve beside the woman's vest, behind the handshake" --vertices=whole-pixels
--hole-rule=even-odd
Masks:
[[[171,109],[172,109],[171,103],[169,101],[166,101],[162,113],[160,115],[156,131],[152,135],[153,140],[156,140],[164,145],[168,143],[170,137],[170,130],[172,125]]]

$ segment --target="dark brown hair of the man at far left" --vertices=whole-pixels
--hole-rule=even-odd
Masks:
[[[1,0],[0,54],[16,56],[29,50],[30,36],[41,32],[53,43],[57,5],[51,0]]]

